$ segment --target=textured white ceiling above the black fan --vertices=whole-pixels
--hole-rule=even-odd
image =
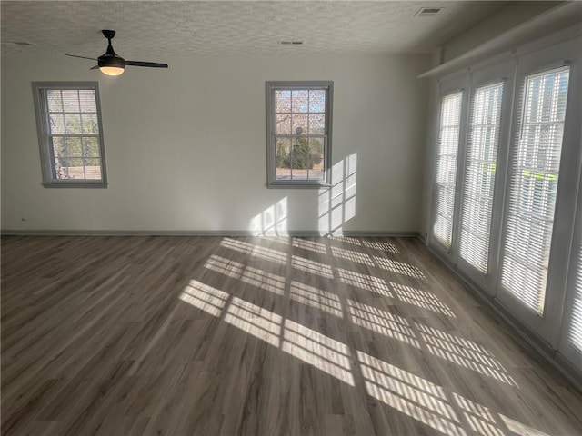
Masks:
[[[479,1],[2,1],[2,51],[96,57],[106,46],[100,29],[114,29],[118,54],[157,62],[187,54],[429,53],[506,5]],[[423,6],[444,9],[433,17],[415,17]],[[278,45],[279,40],[305,44]]]

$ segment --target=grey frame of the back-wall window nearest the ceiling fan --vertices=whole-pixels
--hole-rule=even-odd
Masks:
[[[45,188],[106,188],[107,172],[105,165],[105,144],[103,139],[101,104],[99,100],[99,84],[97,82],[33,82],[32,86],[41,169],[43,174],[43,186],[45,186]],[[59,179],[56,177],[55,160],[51,158],[52,145],[48,119],[48,103],[46,98],[47,90],[95,91],[95,106],[99,130],[98,134],[96,134],[96,138],[99,147],[101,179]]]

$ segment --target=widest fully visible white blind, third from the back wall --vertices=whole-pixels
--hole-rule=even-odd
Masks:
[[[507,203],[501,285],[544,312],[569,67],[526,77]]]

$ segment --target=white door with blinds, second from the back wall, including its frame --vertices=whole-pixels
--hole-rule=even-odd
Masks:
[[[495,292],[497,246],[507,159],[513,63],[471,75],[467,152],[458,217],[457,264],[489,293]]]

